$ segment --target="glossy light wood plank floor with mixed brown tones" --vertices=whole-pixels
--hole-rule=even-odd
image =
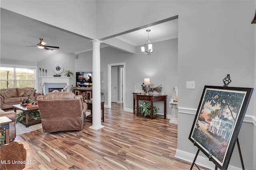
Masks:
[[[177,125],[169,119],[136,117],[116,103],[105,108],[104,118],[99,130],[89,128],[92,121],[86,120],[82,130],[54,134],[40,129],[15,140],[33,149],[34,169],[190,169],[190,162],[174,157]]]

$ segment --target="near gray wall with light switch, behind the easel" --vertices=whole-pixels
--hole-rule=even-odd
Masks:
[[[204,6],[200,6],[201,3],[191,3],[191,8],[179,15],[179,107],[184,107],[184,110],[197,109],[204,85],[222,86],[222,79],[227,74],[232,79],[229,86],[255,87],[255,28],[250,24],[252,16],[248,13],[249,9],[255,12],[255,1],[232,1],[232,8],[228,1],[210,1]],[[196,81],[196,89],[186,89],[186,81]],[[246,115],[255,115],[254,95],[255,91]],[[195,154],[197,148],[188,140],[194,117],[191,114],[179,114],[178,150]],[[248,124],[243,123],[238,138],[241,138],[246,169],[255,169],[255,157],[250,151],[253,148],[250,145],[252,134],[255,133],[253,125]],[[236,147],[230,165],[241,167]]]

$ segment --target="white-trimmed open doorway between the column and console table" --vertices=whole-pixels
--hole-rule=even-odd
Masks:
[[[120,103],[124,103],[124,108],[125,108],[125,63],[112,63],[112,64],[108,64],[108,108],[111,108],[111,101],[112,101],[112,76],[115,76],[115,75],[112,75],[112,67],[120,67],[122,68],[122,75],[120,75],[120,71],[118,71],[117,69],[117,73],[119,74],[118,77],[122,77],[122,83],[120,83],[120,81],[118,81],[117,84],[119,84],[118,86],[118,89],[122,89],[122,90],[119,90],[120,92],[118,94],[120,95],[117,95],[117,98],[119,98],[119,102]],[[120,84],[122,84],[122,88],[120,88]],[[122,97],[121,97],[121,93],[122,93]],[[118,101],[118,99],[116,100]],[[118,103],[119,103],[118,102]]]

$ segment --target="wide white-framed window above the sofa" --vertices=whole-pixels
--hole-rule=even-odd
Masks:
[[[0,88],[34,87],[36,68],[0,67]]]

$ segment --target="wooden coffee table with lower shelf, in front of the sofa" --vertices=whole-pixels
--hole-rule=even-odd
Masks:
[[[14,107],[14,112],[16,112],[16,110],[21,110],[25,112],[26,115],[26,119],[20,121],[20,123],[24,124],[26,127],[29,127],[30,125],[34,125],[34,124],[38,124],[41,123],[41,119],[37,119],[37,120],[28,120],[28,116],[30,114],[30,112],[32,111],[38,111],[38,105],[33,105],[32,107],[26,107],[26,106],[22,106],[22,105],[12,105]]]

